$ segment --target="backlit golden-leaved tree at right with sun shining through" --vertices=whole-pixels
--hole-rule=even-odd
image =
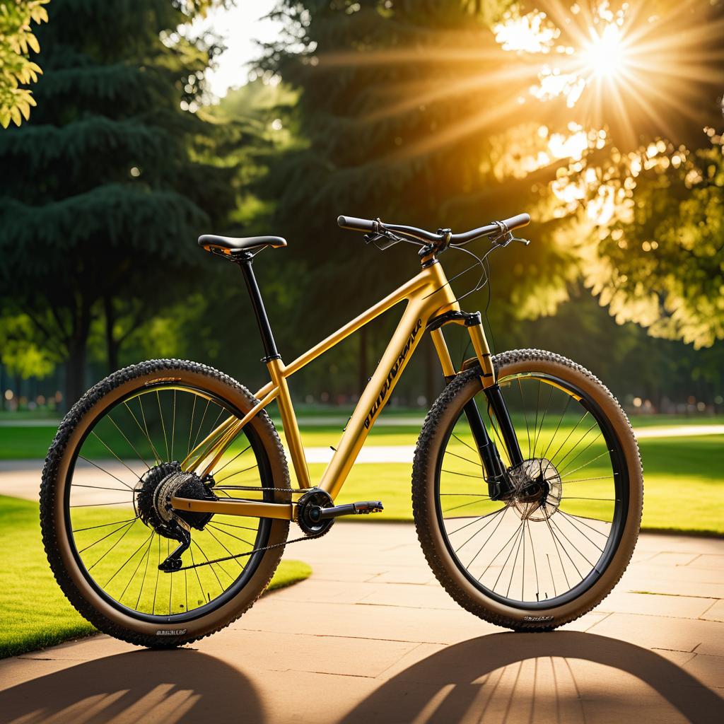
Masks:
[[[724,339],[724,2],[525,5],[547,12],[558,49],[599,63],[566,114],[589,143],[551,185],[586,286],[654,337]],[[582,75],[550,55],[553,70]]]

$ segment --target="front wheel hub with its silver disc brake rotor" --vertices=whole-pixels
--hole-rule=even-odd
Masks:
[[[563,484],[560,473],[547,458],[530,458],[511,468],[512,504],[523,520],[545,521],[560,506]]]

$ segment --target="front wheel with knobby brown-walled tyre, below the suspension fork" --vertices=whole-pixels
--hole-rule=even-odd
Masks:
[[[415,452],[418,538],[442,586],[471,613],[515,630],[550,630],[598,605],[631,560],[643,503],[639,448],[613,395],[576,363],[516,350],[494,365],[523,463],[510,465],[479,367],[458,374]],[[515,488],[539,481],[535,500],[489,497],[463,413],[471,400]]]

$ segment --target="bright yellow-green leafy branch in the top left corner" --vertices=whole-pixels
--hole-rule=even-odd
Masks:
[[[40,50],[32,24],[48,21],[43,7],[49,0],[0,0],[0,125],[12,121],[19,126],[30,118],[35,106],[33,92],[21,85],[35,83],[40,66],[28,58],[30,51]]]

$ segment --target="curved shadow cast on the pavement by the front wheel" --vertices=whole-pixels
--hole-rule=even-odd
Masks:
[[[592,633],[493,633],[447,647],[342,719],[384,722],[660,723],[721,720],[724,699],[665,657]],[[675,717],[678,720],[678,717]]]

